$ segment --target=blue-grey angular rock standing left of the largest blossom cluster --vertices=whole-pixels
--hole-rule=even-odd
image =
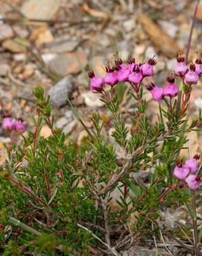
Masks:
[[[48,91],[50,102],[57,107],[61,107],[66,104],[67,97],[70,97],[72,92],[73,84],[69,77],[66,76]]]

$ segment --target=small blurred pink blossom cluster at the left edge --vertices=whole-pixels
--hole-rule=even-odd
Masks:
[[[21,133],[26,131],[26,127],[23,124],[21,118],[15,120],[11,117],[3,118],[2,129],[6,131],[17,131]]]

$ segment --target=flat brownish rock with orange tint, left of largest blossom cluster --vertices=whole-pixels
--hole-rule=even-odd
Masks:
[[[78,73],[86,64],[87,57],[84,53],[59,54],[49,62],[50,70],[62,76]]]

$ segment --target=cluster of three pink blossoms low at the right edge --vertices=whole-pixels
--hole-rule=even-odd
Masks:
[[[174,168],[174,176],[185,180],[192,190],[196,190],[200,185],[200,177],[196,175],[198,170],[197,160],[199,160],[199,156],[196,155],[194,158],[187,159],[184,165],[178,164]]]

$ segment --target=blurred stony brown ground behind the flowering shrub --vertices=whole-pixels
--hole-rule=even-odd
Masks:
[[[167,75],[174,70],[178,51],[185,54],[194,5],[195,1],[188,0],[1,0],[1,112],[7,111],[15,118],[23,118],[26,127],[32,129],[32,116],[35,114],[32,91],[41,85],[46,94],[50,94],[57,127],[64,127],[64,131],[78,143],[86,136],[67,103],[68,96],[89,128],[92,125],[91,114],[99,111],[106,123],[104,132],[114,143],[110,136],[109,113],[100,102],[99,95],[89,91],[86,66],[102,76],[104,66],[113,61],[114,53],[123,61],[135,57],[137,62],[155,55],[157,64],[153,80],[164,86]],[[196,59],[196,52],[201,55],[201,28],[202,1],[196,15],[190,60]],[[129,98],[127,90],[120,91],[122,93],[121,110],[130,129],[134,101]],[[145,98],[149,104],[150,121],[154,124],[158,118],[158,103],[151,99],[147,90]],[[193,86],[191,120],[198,115],[200,107],[201,82]],[[50,135],[46,125],[42,134]],[[191,156],[200,153],[201,134],[192,132],[189,138]],[[0,149],[3,143],[10,143],[10,138],[0,129]],[[182,154],[188,154],[187,150]],[[167,211],[162,218],[168,226],[176,225],[169,217],[172,210]],[[178,210],[172,212],[172,216],[174,214],[178,214]],[[187,221],[187,216],[181,217],[181,225],[186,226],[183,219]]]

